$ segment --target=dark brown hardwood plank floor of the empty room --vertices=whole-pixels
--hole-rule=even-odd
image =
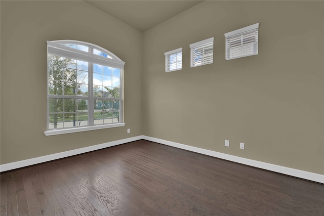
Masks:
[[[324,215],[324,184],[145,140],[1,174],[1,215]]]

